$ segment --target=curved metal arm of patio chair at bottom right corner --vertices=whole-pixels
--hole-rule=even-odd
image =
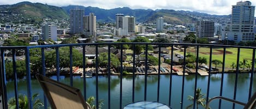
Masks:
[[[256,92],[254,92],[254,94],[252,95],[252,97],[249,99],[249,101],[247,103],[243,103],[243,102],[240,102],[240,101],[236,101],[236,100],[221,97],[221,96],[213,97],[206,104],[205,108],[208,109],[209,105],[210,105],[210,102],[212,100],[215,100],[215,99],[223,99],[223,100],[226,100],[226,101],[234,102],[235,104],[243,105],[243,106],[245,106],[245,107],[243,107],[243,109],[256,109],[256,102],[255,102],[256,101]]]

